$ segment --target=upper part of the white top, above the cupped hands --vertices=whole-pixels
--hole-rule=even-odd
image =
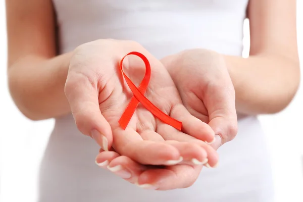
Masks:
[[[61,53],[99,38],[129,39],[159,59],[186,48],[242,54],[248,0],[54,0]]]

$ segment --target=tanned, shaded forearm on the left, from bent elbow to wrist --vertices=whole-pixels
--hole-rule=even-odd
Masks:
[[[64,93],[70,57],[71,53],[53,59],[29,56],[9,67],[11,95],[26,117],[42,120],[70,112]]]

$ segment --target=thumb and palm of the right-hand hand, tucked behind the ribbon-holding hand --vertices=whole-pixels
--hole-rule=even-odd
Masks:
[[[186,109],[215,131],[215,149],[232,140],[237,134],[235,90],[223,55],[207,49],[190,49],[161,62]]]

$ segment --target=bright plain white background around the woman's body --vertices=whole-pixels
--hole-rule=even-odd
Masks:
[[[299,54],[300,60],[303,61],[303,1],[298,0],[297,5]],[[5,23],[5,5],[2,1],[0,3],[0,201],[35,201],[39,161],[54,121],[29,121],[19,113],[12,102],[6,77]],[[249,47],[247,25],[246,21],[244,56],[247,55]],[[303,78],[303,75],[301,77]],[[301,195],[303,193],[302,83],[296,97],[286,110],[276,115],[260,117],[272,156],[276,201],[279,202],[303,201]]]

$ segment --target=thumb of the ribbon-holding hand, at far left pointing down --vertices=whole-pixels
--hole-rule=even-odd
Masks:
[[[71,72],[66,80],[65,93],[80,132],[108,150],[113,141],[112,130],[100,112],[97,85],[92,83],[83,74]]]

